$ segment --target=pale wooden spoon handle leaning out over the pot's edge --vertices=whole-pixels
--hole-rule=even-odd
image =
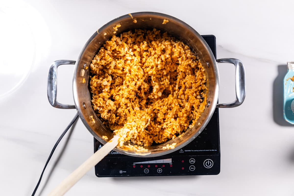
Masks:
[[[108,153],[118,145],[119,136],[115,135],[109,142],[96,151],[66,179],[64,179],[48,196],[64,195],[76,182],[78,182],[91,168],[101,161]]]

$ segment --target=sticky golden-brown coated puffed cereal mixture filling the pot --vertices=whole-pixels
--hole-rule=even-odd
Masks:
[[[93,109],[121,136],[121,148],[132,148],[125,141],[150,146],[174,139],[206,107],[205,68],[189,46],[156,29],[113,35],[90,71]]]

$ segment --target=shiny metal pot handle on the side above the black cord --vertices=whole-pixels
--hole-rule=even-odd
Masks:
[[[48,72],[48,83],[47,83],[47,96],[49,103],[54,108],[61,108],[61,109],[75,109],[75,105],[67,105],[58,103],[56,100],[57,96],[57,67],[60,65],[74,65],[76,64],[76,61],[70,61],[70,60],[59,60],[54,61]]]

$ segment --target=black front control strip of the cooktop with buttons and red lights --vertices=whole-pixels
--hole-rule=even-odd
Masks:
[[[136,158],[113,157],[101,160],[95,167],[98,177],[167,176],[167,175],[217,175],[220,172],[220,156],[173,156]],[[130,163],[130,164],[129,164]]]

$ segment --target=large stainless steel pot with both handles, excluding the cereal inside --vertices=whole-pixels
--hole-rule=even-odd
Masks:
[[[177,39],[185,42],[191,48],[196,51],[202,64],[205,66],[207,71],[207,86],[209,88],[207,92],[208,102],[206,109],[201,114],[198,122],[193,128],[189,128],[180,138],[177,137],[173,140],[169,140],[165,143],[146,147],[148,149],[147,153],[138,153],[135,151],[124,151],[120,148],[115,148],[119,153],[131,156],[145,156],[145,157],[155,157],[160,155],[165,155],[173,151],[181,149],[183,146],[194,140],[201,131],[206,127],[207,123],[211,119],[211,116],[215,108],[232,108],[241,105],[245,98],[245,70],[243,64],[238,59],[234,58],[223,58],[215,60],[211,49],[204,41],[204,39],[197,33],[191,26],[184,23],[183,21],[176,19],[173,16],[166,14],[156,13],[156,12],[137,12],[131,14],[137,23],[133,22],[133,19],[128,14],[118,17],[95,32],[91,38],[87,41],[83,47],[77,61],[60,60],[52,63],[49,74],[48,74],[48,99],[53,107],[63,108],[63,109],[74,109],[78,111],[78,115],[82,122],[90,133],[102,144],[107,141],[102,139],[103,135],[108,138],[113,137],[111,130],[106,128],[99,118],[97,118],[92,106],[91,106],[91,96],[88,90],[89,81],[89,69],[85,69],[87,66],[90,67],[90,63],[93,57],[98,52],[99,48],[103,43],[113,36],[113,26],[121,24],[118,28],[117,35],[124,31],[131,29],[146,29],[146,28],[156,28],[161,31],[167,31],[170,35],[176,37]],[[162,24],[163,19],[168,19],[167,24]],[[106,34],[105,34],[106,33]],[[105,36],[104,36],[105,35]],[[236,73],[236,100],[232,103],[222,103],[218,104],[218,93],[219,93],[219,75],[217,63],[232,63],[235,65]],[[56,100],[56,79],[57,79],[57,67],[64,64],[75,65],[74,77],[73,77],[73,94],[75,105],[66,105],[58,103]],[[82,83],[83,78],[86,79],[86,83]],[[90,116],[93,116],[96,123],[92,122]],[[177,143],[176,148],[163,150],[163,146],[167,144]],[[127,145],[127,143],[126,143]]]

